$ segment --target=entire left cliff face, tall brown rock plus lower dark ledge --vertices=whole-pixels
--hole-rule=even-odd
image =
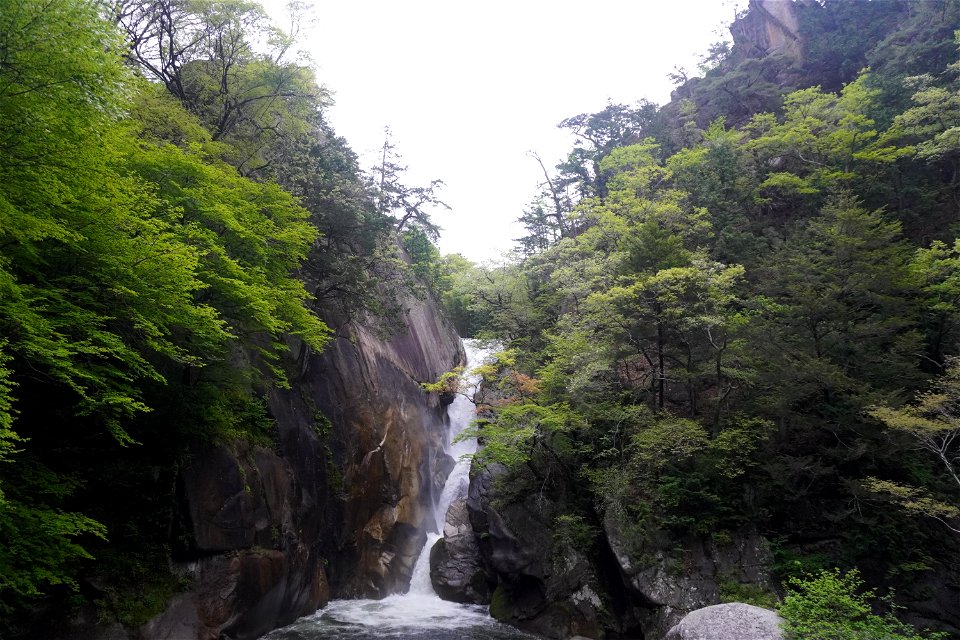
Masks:
[[[409,580],[433,496],[452,466],[446,412],[425,394],[463,359],[430,301],[379,337],[327,318],[336,340],[302,348],[268,407],[276,442],[198,451],[178,480],[189,592],[145,639],[255,638],[331,596],[383,596]]]

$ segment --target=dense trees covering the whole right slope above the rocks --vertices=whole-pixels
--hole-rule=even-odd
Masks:
[[[799,49],[742,16],[670,104],[561,123],[513,260],[446,299],[510,348],[477,429],[509,495],[634,549],[759,530],[784,583],[910,606],[958,584],[960,4],[794,11]]]

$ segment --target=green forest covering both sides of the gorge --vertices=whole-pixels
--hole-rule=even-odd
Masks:
[[[725,599],[850,604],[827,631],[788,597],[791,637],[960,633],[960,2],[793,7],[793,48],[751,4],[669,103],[560,123],[480,265],[389,138],[361,169],[256,3],[0,0],[0,636],[160,613],[182,470],[277,449],[300,355],[389,340],[410,300],[497,345],[473,464],[501,505],[549,496],[554,539],[749,530],[778,586]]]

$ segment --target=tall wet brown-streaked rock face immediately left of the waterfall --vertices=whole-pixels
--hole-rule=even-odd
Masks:
[[[406,588],[453,462],[444,453],[446,408],[420,383],[459,364],[462,347],[432,302],[409,304],[407,330],[390,339],[341,324],[322,354],[302,355],[293,389],[270,401],[284,455],[311,498],[304,536],[320,541],[337,597]],[[319,455],[302,455],[317,414],[329,433]]]

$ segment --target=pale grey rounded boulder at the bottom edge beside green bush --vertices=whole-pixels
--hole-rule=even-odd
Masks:
[[[731,602],[692,611],[664,640],[783,640],[775,611]]]

